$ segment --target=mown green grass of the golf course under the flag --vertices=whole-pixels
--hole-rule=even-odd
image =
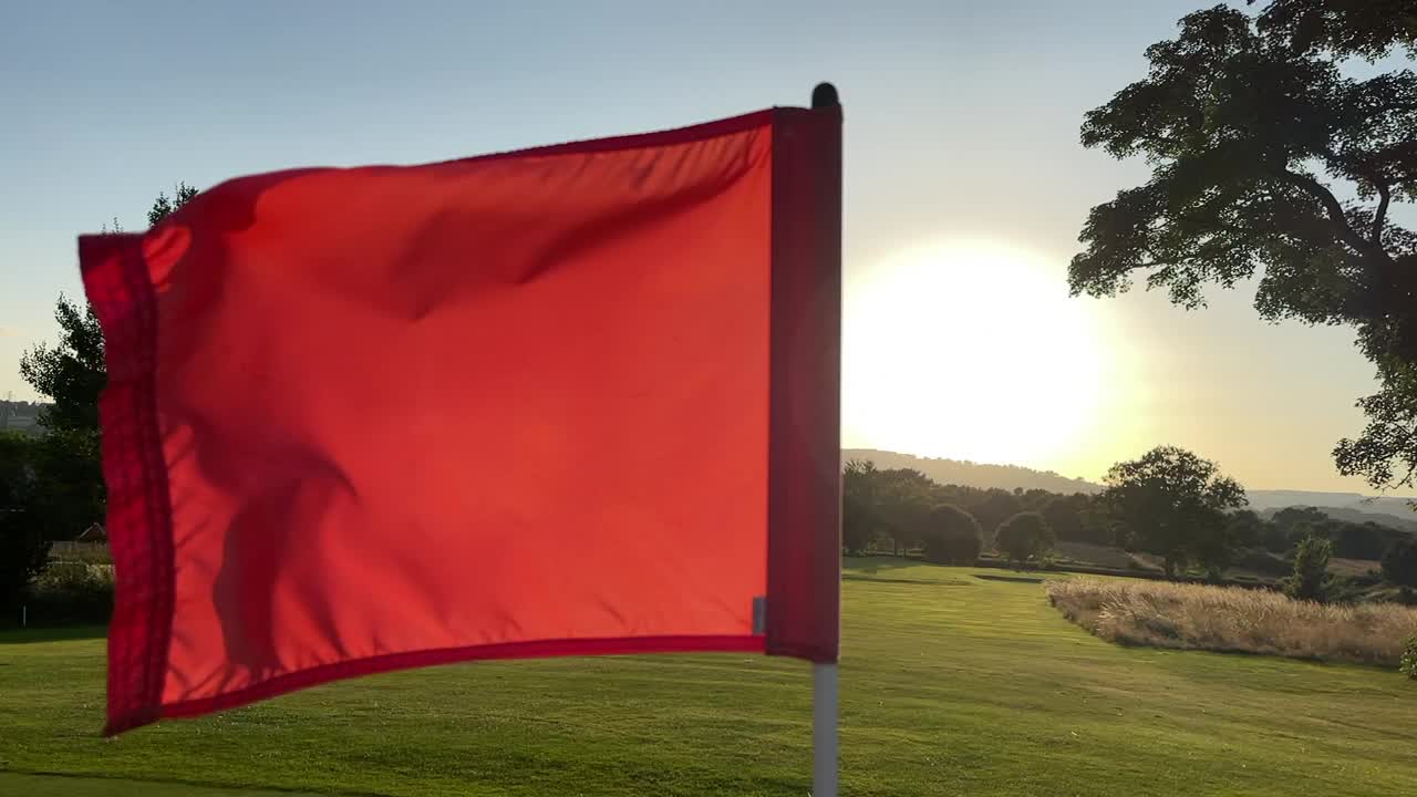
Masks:
[[[1122,648],[1064,620],[1041,584],[975,573],[1002,572],[847,570],[843,794],[1396,797],[1417,783],[1417,688],[1396,672]],[[102,640],[50,637],[0,637],[0,794],[809,788],[809,672],[794,661],[453,665],[103,740]]]

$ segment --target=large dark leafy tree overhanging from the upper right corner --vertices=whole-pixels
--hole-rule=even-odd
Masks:
[[[1149,75],[1087,115],[1084,146],[1144,156],[1152,177],[1093,208],[1068,271],[1074,295],[1112,296],[1145,274],[1185,308],[1209,284],[1261,275],[1263,318],[1355,328],[1380,390],[1333,457],[1377,488],[1417,474],[1417,233],[1396,221],[1417,201],[1417,74],[1340,65],[1417,54],[1414,20],[1413,0],[1185,17],[1146,50]]]

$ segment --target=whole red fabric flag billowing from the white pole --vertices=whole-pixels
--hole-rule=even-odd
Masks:
[[[84,235],[108,732],[466,659],[837,657],[840,111]]]

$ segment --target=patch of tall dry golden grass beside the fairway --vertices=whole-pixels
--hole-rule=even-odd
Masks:
[[[1165,581],[1049,581],[1049,603],[1114,642],[1396,667],[1417,608],[1322,606],[1280,593]]]

